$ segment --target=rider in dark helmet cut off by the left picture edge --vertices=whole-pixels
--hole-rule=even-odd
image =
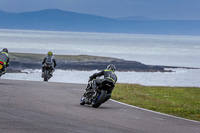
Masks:
[[[1,69],[2,74],[6,73],[6,67],[9,66],[9,55],[8,55],[8,49],[4,48],[1,52],[0,52],[0,62],[3,63],[3,68]]]

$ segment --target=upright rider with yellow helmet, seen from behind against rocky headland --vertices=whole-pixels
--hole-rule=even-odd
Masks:
[[[45,69],[45,64],[51,64],[51,76],[53,76],[53,71],[55,71],[55,67],[57,65],[56,60],[53,56],[53,53],[51,51],[49,51],[47,53],[47,56],[44,58],[43,62],[42,62],[42,77],[44,77],[44,69]]]

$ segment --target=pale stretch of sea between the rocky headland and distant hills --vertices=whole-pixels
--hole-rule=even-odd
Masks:
[[[55,55],[95,55],[148,65],[200,68],[200,36],[0,29],[0,49]]]

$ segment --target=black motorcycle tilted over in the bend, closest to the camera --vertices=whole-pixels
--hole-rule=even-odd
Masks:
[[[93,81],[88,83],[86,92],[83,94],[80,100],[80,105],[92,105],[94,108],[98,108],[102,103],[106,102],[110,96],[108,90],[113,89],[114,85],[112,82],[102,82],[96,89],[92,89]],[[109,98],[108,98],[109,97]]]

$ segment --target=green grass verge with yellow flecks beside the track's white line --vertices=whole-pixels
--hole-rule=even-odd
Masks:
[[[200,88],[117,84],[112,99],[145,109],[200,121]]]

